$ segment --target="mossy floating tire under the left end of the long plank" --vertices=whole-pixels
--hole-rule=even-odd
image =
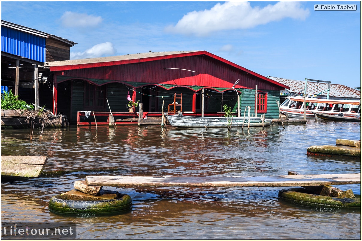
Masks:
[[[109,215],[129,212],[132,208],[131,197],[119,194],[117,199],[100,201],[64,200],[55,195],[49,201],[49,210],[56,214],[68,215]]]

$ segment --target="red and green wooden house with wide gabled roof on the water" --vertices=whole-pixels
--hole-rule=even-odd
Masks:
[[[143,103],[148,116],[160,116],[163,103],[168,112],[174,93],[182,93],[184,115],[201,116],[203,107],[205,116],[223,116],[225,104],[236,112],[239,97],[240,112],[251,106],[253,113],[274,118],[279,115],[275,100],[288,87],[207,51],[56,61],[43,69],[54,76],[53,111],[65,114],[73,124],[82,122],[80,111],[101,115],[111,110],[118,119],[135,116],[127,114],[128,93]]]

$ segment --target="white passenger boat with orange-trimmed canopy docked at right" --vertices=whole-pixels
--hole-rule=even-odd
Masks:
[[[291,118],[303,118],[304,97],[288,96],[285,102],[281,104],[280,111]],[[361,100],[321,99],[309,94],[306,97],[306,118],[315,118],[312,111],[329,115],[342,113],[344,117],[357,118],[361,115]]]

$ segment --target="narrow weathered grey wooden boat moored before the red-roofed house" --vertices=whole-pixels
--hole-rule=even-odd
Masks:
[[[172,126],[177,127],[241,127],[248,126],[248,117],[199,117],[199,116],[182,116],[182,115],[169,115],[165,113],[168,122]],[[250,117],[250,125],[252,127],[262,126],[262,120],[260,117]],[[264,120],[264,126],[271,125],[271,119]]]

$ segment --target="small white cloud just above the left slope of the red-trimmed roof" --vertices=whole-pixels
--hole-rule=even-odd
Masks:
[[[115,48],[111,42],[105,42],[94,45],[92,48],[85,50],[84,52],[71,52],[70,59],[88,59],[104,56],[112,56],[116,53]]]

